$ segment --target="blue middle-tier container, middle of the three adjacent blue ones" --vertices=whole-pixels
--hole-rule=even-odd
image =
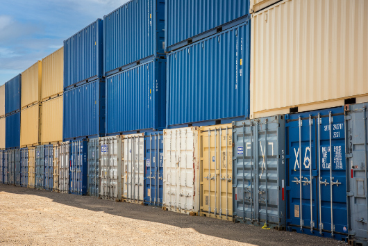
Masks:
[[[165,128],[166,60],[153,59],[106,79],[108,134]]]

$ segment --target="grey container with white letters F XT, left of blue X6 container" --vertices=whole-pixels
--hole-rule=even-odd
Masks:
[[[285,117],[233,122],[233,215],[285,229]]]

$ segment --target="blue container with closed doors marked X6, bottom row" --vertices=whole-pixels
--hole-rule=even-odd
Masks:
[[[342,240],[347,236],[344,108],[285,117],[287,229]]]

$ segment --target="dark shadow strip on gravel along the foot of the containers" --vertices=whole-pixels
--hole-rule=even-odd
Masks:
[[[53,202],[83,208],[94,212],[108,213],[134,220],[157,222],[179,228],[192,228],[199,233],[253,245],[344,245],[329,238],[290,233],[287,231],[265,230],[247,224],[234,224],[223,220],[189,216],[180,213],[162,211],[162,208],[142,206],[126,202],[112,202],[97,197],[60,194],[46,190],[33,190],[0,184],[0,192],[17,195],[37,195],[52,199]]]

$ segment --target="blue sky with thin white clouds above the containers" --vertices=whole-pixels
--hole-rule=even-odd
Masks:
[[[128,0],[0,0],[0,85]]]

